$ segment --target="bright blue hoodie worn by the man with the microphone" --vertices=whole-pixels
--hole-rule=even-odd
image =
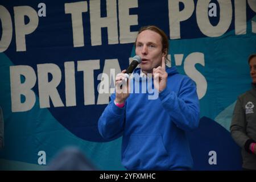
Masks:
[[[139,68],[134,71],[140,72]],[[180,75],[176,67],[166,67],[166,72],[166,89],[156,100],[148,100],[148,92],[133,92],[120,108],[114,104],[115,94],[112,94],[98,121],[98,130],[105,139],[123,136],[122,164],[129,170],[175,170],[193,166],[185,131],[199,126],[196,85],[191,78]],[[142,79],[134,84],[141,85]]]

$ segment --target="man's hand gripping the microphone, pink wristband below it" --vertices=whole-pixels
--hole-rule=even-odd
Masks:
[[[127,78],[126,69],[118,73],[115,77],[115,102],[123,104],[129,97],[129,79]]]

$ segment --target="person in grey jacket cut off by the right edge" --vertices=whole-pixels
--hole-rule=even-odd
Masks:
[[[249,56],[252,89],[238,97],[230,132],[242,148],[243,169],[256,170],[256,54]]]

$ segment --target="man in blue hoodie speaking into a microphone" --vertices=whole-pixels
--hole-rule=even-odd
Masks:
[[[141,28],[135,52],[142,58],[140,68],[134,71],[140,79],[130,78],[120,88],[127,79],[126,70],[115,77],[115,94],[98,121],[98,130],[105,139],[123,137],[122,164],[129,170],[191,169],[185,131],[199,126],[196,85],[175,67],[166,67],[168,38],[158,27]],[[136,85],[143,85],[143,78],[152,80],[158,98],[150,100],[149,92],[134,92]]]

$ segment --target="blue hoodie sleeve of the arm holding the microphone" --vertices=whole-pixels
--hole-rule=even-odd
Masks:
[[[98,130],[104,139],[114,140],[122,136],[125,125],[125,109],[114,104],[115,94],[112,94],[109,105],[98,120]]]

